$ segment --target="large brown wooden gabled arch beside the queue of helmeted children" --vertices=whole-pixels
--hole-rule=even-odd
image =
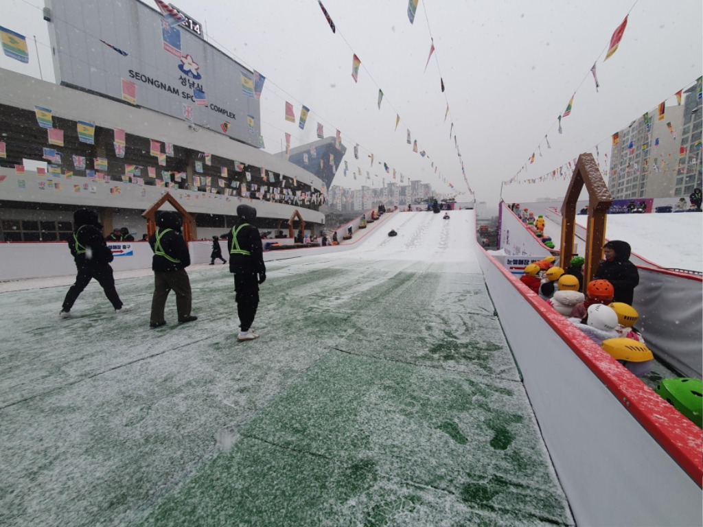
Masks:
[[[592,154],[581,154],[576,161],[576,169],[569,183],[569,190],[562,203],[562,238],[560,245],[561,265],[569,264],[574,255],[574,235],[576,233],[576,202],[583,186],[588,191],[588,226],[586,227],[586,254],[583,264],[583,283],[591,281],[595,269],[600,263],[603,243],[605,242],[605,221],[607,211],[613,202],[598,163]]]

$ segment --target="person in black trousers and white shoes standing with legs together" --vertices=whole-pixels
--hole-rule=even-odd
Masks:
[[[237,220],[227,235],[229,271],[234,273],[235,301],[241,331],[237,340],[258,339],[251,327],[259,307],[259,284],[266,280],[264,249],[259,230],[252,225],[257,209],[241,204],[237,207]]]

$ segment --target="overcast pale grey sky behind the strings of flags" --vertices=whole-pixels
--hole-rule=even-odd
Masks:
[[[703,72],[700,0],[420,0],[412,25],[406,0],[325,0],[336,34],[316,0],[173,3],[206,26],[211,44],[267,77],[262,94],[266,151],[280,151],[285,132],[292,134],[292,147],[314,141],[318,121],[325,136],[340,129],[349,149],[349,174],[344,177],[340,167],[334,184],[351,188],[366,183],[367,170],[378,175],[372,177],[374,186],[382,178],[391,181],[378,164],[386,162],[406,181],[421,179],[439,193],[449,193],[446,179],[454,190],[465,192],[456,134],[477,200],[496,202],[501,181],[512,178],[532,152],[531,177],[557,169],[599,143],[601,154],[610,152],[614,131],[664,99],[676,104],[673,94]],[[3,4],[0,25],[27,36],[30,64],[0,56],[0,67],[39,76],[36,35],[44,78],[53,80],[43,2]],[[628,12],[618,51],[603,63],[612,32]],[[430,34],[436,51],[423,72]],[[358,83],[352,79],[353,53],[361,59]],[[596,60],[598,93],[590,73]],[[380,110],[379,88],[384,92]],[[556,118],[574,91],[572,115],[562,119],[559,135]],[[302,104],[311,109],[304,131],[283,118],[286,100],[296,118]],[[396,113],[401,123],[394,131]],[[408,128],[430,160],[412,152]],[[358,162],[352,153],[355,143],[360,145]],[[372,152],[373,169],[367,157]],[[431,161],[439,167],[437,174]],[[354,181],[357,167],[364,177]],[[567,184],[506,186],[503,198],[562,197]]]

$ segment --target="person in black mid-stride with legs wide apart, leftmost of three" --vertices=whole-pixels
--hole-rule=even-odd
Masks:
[[[133,306],[122,304],[120,295],[115,289],[115,278],[112,276],[112,267],[110,267],[114,256],[105,244],[103,226],[98,222],[98,213],[92,209],[78,209],[73,213],[73,223],[75,230],[68,239],[68,247],[78,273],[75,284],[66,293],[59,315],[63,318],[71,316],[71,308],[78,295],[93,278],[103,287],[105,297],[108,297],[112,307],[115,308],[115,313],[127,313]]]

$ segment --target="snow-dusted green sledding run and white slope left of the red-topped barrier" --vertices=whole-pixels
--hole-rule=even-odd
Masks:
[[[157,330],[150,274],[120,316],[95,283],[67,320],[63,282],[0,294],[0,524],[572,525],[450,216],[269,262],[246,343],[227,266],[190,268],[200,318],[169,299]]]

